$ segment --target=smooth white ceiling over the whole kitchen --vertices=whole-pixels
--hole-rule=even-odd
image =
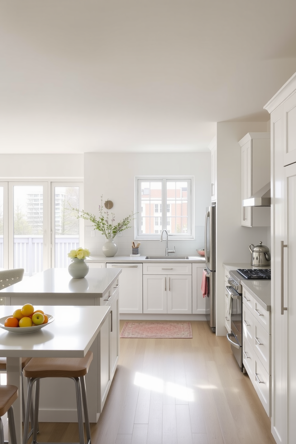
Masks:
[[[296,71],[292,0],[0,0],[0,153],[206,151]]]

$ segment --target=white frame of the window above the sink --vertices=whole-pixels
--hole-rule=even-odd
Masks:
[[[147,240],[155,240],[159,239],[159,234],[156,233],[141,233],[142,228],[142,194],[141,194],[141,184],[142,182],[162,182],[162,198],[159,204],[161,208],[166,208],[167,205],[170,205],[170,202],[167,201],[166,191],[167,191],[167,182],[187,182],[187,233],[170,233],[170,238],[174,239],[194,239],[194,182],[193,176],[137,176],[135,177],[135,213],[138,213],[137,221],[134,225],[135,228],[135,239],[147,239]],[[158,205],[159,205],[158,204]],[[171,207],[170,207],[171,209]],[[160,216],[161,215],[161,216]],[[162,226],[159,228],[165,228],[167,230],[167,213],[157,213],[154,216],[150,217],[161,217]],[[171,226],[171,225],[170,225]],[[161,230],[159,231],[161,233]]]

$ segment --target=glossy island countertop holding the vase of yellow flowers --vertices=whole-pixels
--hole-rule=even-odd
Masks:
[[[120,273],[120,269],[90,268],[86,277],[74,279],[67,268],[49,268],[4,288],[1,293],[14,293],[14,296],[34,293],[40,297],[80,297],[85,293],[91,297],[103,297]]]

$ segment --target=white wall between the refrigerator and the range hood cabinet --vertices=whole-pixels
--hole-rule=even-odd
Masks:
[[[270,248],[270,227],[241,226],[241,147],[248,132],[268,131],[266,122],[217,123],[217,319],[216,334],[225,335],[224,263],[251,261],[249,244]]]

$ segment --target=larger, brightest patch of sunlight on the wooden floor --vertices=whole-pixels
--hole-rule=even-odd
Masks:
[[[194,401],[193,391],[191,389],[183,385],[174,384],[173,382],[165,382],[162,379],[145,375],[144,373],[137,372],[135,374],[134,385],[185,401]]]

